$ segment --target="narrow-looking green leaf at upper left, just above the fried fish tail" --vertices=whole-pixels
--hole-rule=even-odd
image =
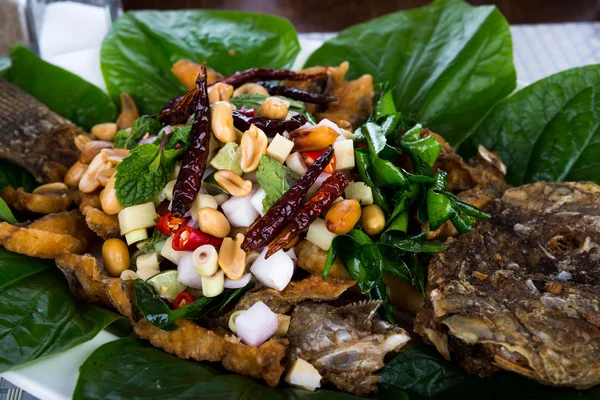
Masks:
[[[114,121],[117,109],[102,89],[56,65],[43,61],[21,45],[10,50],[12,65],[7,79],[52,111],[89,131]]]

